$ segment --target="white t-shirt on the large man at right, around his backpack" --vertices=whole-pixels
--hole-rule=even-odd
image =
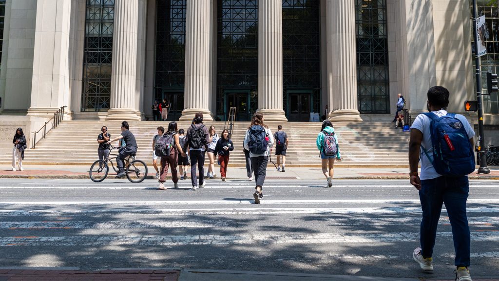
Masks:
[[[446,110],[438,110],[438,111],[432,111],[432,113],[437,114],[438,117],[442,117],[444,115],[447,115]],[[458,118],[463,125],[465,126],[466,132],[468,133],[468,138],[472,138],[475,136],[475,130],[473,127],[470,125],[468,120],[466,119],[465,116],[461,114],[456,114],[456,118]],[[430,123],[431,123],[430,117],[426,116],[425,114],[419,114],[414,122],[412,123],[411,129],[415,128],[418,129],[423,133],[423,140],[421,142],[421,149],[426,149],[426,152],[428,153],[428,156],[433,161],[433,147],[432,147],[432,135],[430,132]],[[441,174],[437,173],[435,168],[433,167],[432,162],[428,159],[426,154],[421,151],[421,174],[419,175],[420,179],[432,179],[442,176]]]

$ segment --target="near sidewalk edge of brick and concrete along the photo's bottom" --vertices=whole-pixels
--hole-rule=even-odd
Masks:
[[[403,277],[380,277],[380,276],[357,276],[357,275],[330,275],[330,274],[307,274],[307,273],[285,273],[285,272],[262,272],[262,271],[233,271],[233,270],[209,270],[188,268],[113,268],[106,270],[85,271],[77,267],[0,267],[0,281],[62,281],[62,280],[85,280],[85,281],[451,281],[449,278],[403,278]],[[499,281],[495,278],[474,278],[475,281]]]

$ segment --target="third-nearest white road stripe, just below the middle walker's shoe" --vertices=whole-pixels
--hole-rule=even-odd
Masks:
[[[494,213],[499,207],[468,207],[468,213]],[[30,215],[93,215],[92,213],[122,213],[133,215],[238,215],[238,214],[345,214],[345,213],[422,213],[421,207],[337,207],[337,208],[175,208],[175,209],[11,209],[0,210],[0,216]],[[447,212],[445,208],[442,212]]]

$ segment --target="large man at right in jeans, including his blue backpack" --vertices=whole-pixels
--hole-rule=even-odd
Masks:
[[[475,170],[475,131],[463,115],[445,110],[449,104],[448,89],[434,86],[427,95],[430,112],[416,117],[409,143],[411,184],[419,190],[423,210],[421,247],[414,250],[413,258],[423,270],[433,271],[433,247],[445,203],[456,251],[456,280],[471,281],[466,201],[470,189],[468,174]],[[421,174],[418,173],[420,158]]]

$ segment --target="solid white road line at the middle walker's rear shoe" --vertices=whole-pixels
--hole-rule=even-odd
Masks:
[[[493,203],[498,204],[499,199],[468,199],[469,204]],[[419,199],[326,199],[326,200],[264,200],[265,204],[420,204]],[[228,200],[171,200],[171,201],[0,201],[0,205],[232,205],[253,204],[253,199],[228,199]]]

